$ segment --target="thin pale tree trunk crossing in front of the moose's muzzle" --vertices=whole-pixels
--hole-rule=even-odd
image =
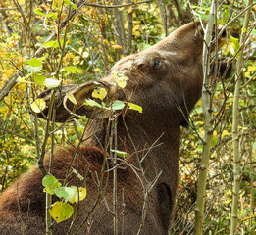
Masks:
[[[197,196],[195,205],[195,234],[201,235],[203,232],[203,216],[204,216],[204,203],[205,203],[205,189],[207,170],[210,159],[211,140],[213,126],[211,123],[212,109],[211,109],[211,91],[210,89],[210,77],[208,75],[210,71],[209,56],[210,56],[210,43],[211,35],[216,16],[217,0],[212,2],[210,17],[206,26],[206,32],[204,35],[204,46],[203,46],[203,89],[202,89],[202,105],[203,115],[205,118],[205,132],[203,136],[203,153],[202,162],[199,168],[199,176],[197,182]]]

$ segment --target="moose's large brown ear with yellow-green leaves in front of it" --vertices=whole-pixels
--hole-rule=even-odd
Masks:
[[[65,122],[69,118],[79,118],[79,116],[91,118],[92,114],[97,115],[102,110],[97,107],[97,104],[100,106],[102,101],[104,103],[111,102],[115,99],[116,90],[115,83],[106,81],[88,81],[79,86],[64,86],[55,97],[55,121]],[[38,115],[39,118],[46,118],[48,115],[50,93],[47,90],[39,96],[47,104],[43,114]]]

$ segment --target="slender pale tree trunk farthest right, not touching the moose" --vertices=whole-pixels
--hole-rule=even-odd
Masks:
[[[247,6],[252,4],[252,0],[248,1]],[[246,38],[246,28],[249,23],[250,9],[245,13],[243,22],[243,28],[240,36],[240,54],[237,58],[236,71],[235,71],[235,88],[234,88],[234,99],[232,108],[232,148],[233,148],[233,192],[232,192],[232,206],[231,206],[231,225],[230,234],[233,235],[236,232],[237,227],[237,215],[238,215],[238,198],[240,191],[241,181],[241,165],[240,165],[240,149],[239,149],[239,101],[240,101],[240,87],[241,87],[241,70],[243,66],[243,47]]]

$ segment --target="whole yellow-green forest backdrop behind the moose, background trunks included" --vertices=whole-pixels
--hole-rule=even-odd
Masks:
[[[232,71],[230,78],[217,82],[216,76],[211,81],[203,234],[234,234],[232,207],[237,209],[235,232],[255,234],[255,3],[217,3],[216,23],[228,34],[227,45],[217,56],[232,65]],[[99,79],[119,59],[154,45],[179,25],[208,20],[211,6],[212,1],[205,0],[1,0],[0,191],[36,164],[42,148],[53,148],[53,139],[45,138],[45,121],[33,112],[42,90]],[[56,125],[54,145],[77,145],[82,121]],[[193,231],[205,128],[200,100],[189,128],[183,129],[172,234]]]

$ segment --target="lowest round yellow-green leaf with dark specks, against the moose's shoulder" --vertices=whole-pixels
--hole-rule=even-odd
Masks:
[[[56,202],[49,209],[50,215],[56,220],[57,223],[67,220],[74,212],[71,205],[62,202]]]

